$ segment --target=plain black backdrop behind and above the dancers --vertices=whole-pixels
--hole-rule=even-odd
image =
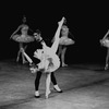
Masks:
[[[17,43],[10,40],[11,34],[22,24],[23,15],[32,29],[40,29],[43,37],[51,39],[58,22],[65,16],[75,45],[69,46],[65,55],[68,63],[104,63],[107,48],[101,39],[109,28],[109,7],[107,2],[7,2],[0,9],[0,60],[14,59]]]

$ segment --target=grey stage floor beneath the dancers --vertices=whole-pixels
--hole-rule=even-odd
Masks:
[[[0,109],[109,109],[109,70],[101,64],[72,64],[56,71],[63,93],[45,98],[46,75],[40,80],[40,98],[34,97],[34,80],[27,65],[0,62]]]

